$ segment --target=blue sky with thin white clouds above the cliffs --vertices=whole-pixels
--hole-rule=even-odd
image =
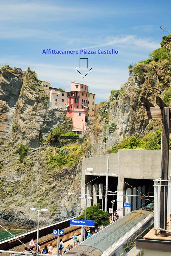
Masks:
[[[128,79],[128,66],[148,58],[171,30],[171,1],[1,1],[0,64],[29,66],[53,87],[89,85],[96,103]],[[117,55],[42,55],[43,49],[117,49]],[[75,69],[88,58],[83,78]]]

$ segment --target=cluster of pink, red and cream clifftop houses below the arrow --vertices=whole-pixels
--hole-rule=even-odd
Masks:
[[[70,92],[50,86],[48,88],[49,107],[65,108],[66,116],[72,119],[74,130],[85,131],[85,122],[95,119],[96,94],[90,93],[87,85],[76,82],[71,82]]]

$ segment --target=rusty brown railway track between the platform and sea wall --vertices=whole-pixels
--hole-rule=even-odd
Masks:
[[[71,237],[76,234],[81,235],[81,228],[72,228],[69,231],[67,231],[66,233],[64,233],[64,236],[60,236],[60,238],[62,238],[63,242],[67,242],[71,239]],[[47,247],[49,246],[49,244],[52,243],[52,246],[55,247],[57,246],[57,236],[52,235],[52,238],[49,238],[45,241],[40,242],[40,249],[42,250],[44,248],[45,245],[47,245]]]

